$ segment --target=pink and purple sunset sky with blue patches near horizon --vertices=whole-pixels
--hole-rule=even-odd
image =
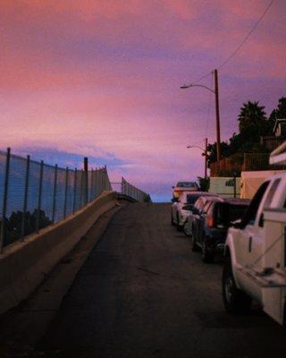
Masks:
[[[106,165],[153,200],[204,174],[214,96],[183,83],[240,45],[269,0],[0,0],[1,148],[49,164]],[[222,140],[243,102],[286,96],[286,2],[275,0],[219,70]],[[212,75],[200,82],[212,87]]]

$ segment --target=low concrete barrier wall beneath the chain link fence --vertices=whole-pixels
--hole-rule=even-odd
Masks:
[[[103,192],[74,215],[7,247],[0,256],[0,314],[27,298],[116,200],[115,192]]]

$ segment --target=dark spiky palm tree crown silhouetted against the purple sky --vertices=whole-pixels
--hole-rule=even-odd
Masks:
[[[259,102],[248,101],[240,108],[238,121],[240,122],[240,132],[252,126],[259,126],[266,119],[265,107],[258,106]]]

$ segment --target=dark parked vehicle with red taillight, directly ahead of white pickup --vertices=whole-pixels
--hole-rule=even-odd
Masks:
[[[249,200],[211,198],[201,215],[193,221],[192,248],[200,248],[202,260],[212,262],[216,252],[223,252],[228,228],[241,219]]]

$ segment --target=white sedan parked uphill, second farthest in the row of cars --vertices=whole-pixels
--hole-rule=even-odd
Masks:
[[[180,198],[172,204],[171,223],[181,230],[187,218],[194,209],[194,204],[199,197],[213,195],[208,192],[183,192]]]

